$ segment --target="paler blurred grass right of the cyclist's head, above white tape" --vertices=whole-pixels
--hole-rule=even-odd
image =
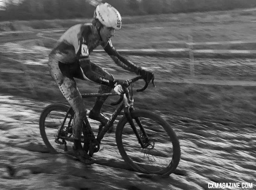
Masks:
[[[217,16],[217,13],[215,13]],[[140,23],[124,25],[123,29],[115,32],[112,43],[117,49],[129,48],[187,48],[185,44],[172,44],[167,41],[186,41],[192,36],[193,42],[208,41],[255,41],[256,20],[253,15],[238,16],[223,13],[223,17],[214,15],[194,16],[194,20],[184,15],[176,15],[176,21]],[[134,18],[135,20],[136,18]],[[186,21],[183,21],[188,19]],[[73,23],[75,24],[75,23]],[[158,28],[154,28],[158,27]],[[61,34],[45,36],[58,39]],[[52,46],[53,41],[42,39],[46,46]],[[51,44],[51,45],[48,45]],[[255,49],[256,43],[250,44],[220,44],[220,45],[194,45],[194,49]],[[101,48],[101,47],[99,47]],[[99,49],[97,48],[97,49]]]

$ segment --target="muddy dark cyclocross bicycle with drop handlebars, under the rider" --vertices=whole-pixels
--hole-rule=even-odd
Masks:
[[[176,167],[178,166],[179,161],[180,161],[180,157],[181,157],[180,143],[179,143],[179,140],[178,140],[175,132],[173,131],[173,129],[171,128],[171,126],[169,125],[169,123],[166,120],[162,119],[159,115],[157,115],[151,111],[143,110],[143,109],[142,110],[134,109],[134,107],[133,107],[134,99],[133,99],[132,87],[133,87],[133,83],[135,83],[139,79],[142,79],[142,77],[137,76],[137,77],[130,79],[128,85],[125,88],[125,94],[121,95],[117,102],[110,103],[112,106],[118,105],[118,104],[119,105],[115,109],[112,116],[109,118],[109,121],[106,123],[106,125],[100,126],[101,129],[99,127],[99,132],[98,132],[98,135],[96,138],[95,138],[94,132],[91,129],[91,126],[90,126],[90,123],[89,123],[87,117],[85,117],[84,123],[83,123],[83,130],[82,130],[82,134],[81,134],[81,142],[84,143],[83,148],[88,152],[88,154],[90,156],[93,156],[94,153],[96,153],[100,150],[100,143],[101,143],[101,140],[103,139],[105,133],[110,129],[111,126],[113,126],[113,123],[116,120],[117,116],[120,115],[120,113],[124,109],[124,115],[119,120],[117,127],[116,127],[116,132],[115,132],[115,140],[116,140],[117,148],[118,148],[119,153],[122,156],[123,160],[128,165],[130,165],[132,170],[137,171],[137,172],[141,172],[141,173],[145,173],[145,174],[170,175],[171,173],[174,172],[174,170],[176,169]],[[142,89],[137,89],[137,92],[144,91],[147,88],[148,84],[149,83],[145,83],[145,86]],[[152,84],[155,87],[154,79],[152,80]],[[131,90],[130,90],[131,93],[128,89],[129,86],[131,87]],[[116,95],[118,95],[118,94],[116,94],[116,93],[88,93],[88,94],[82,94],[82,97],[87,98],[87,97],[96,97],[96,96],[116,96]],[[71,106],[68,107],[63,104],[50,104],[47,107],[45,107],[41,113],[40,120],[39,120],[40,134],[43,138],[45,145],[49,149],[49,151],[51,153],[58,154],[58,151],[48,141],[48,138],[47,138],[46,132],[45,132],[45,119],[46,119],[47,115],[51,111],[54,111],[54,110],[61,110],[66,113],[65,118],[64,118],[63,122],[61,123],[61,127],[58,130],[58,134],[54,135],[55,143],[60,144],[60,145],[65,145],[64,151],[67,151],[67,146],[66,146],[67,142],[66,141],[73,142],[73,137],[71,137],[72,136],[72,122],[71,121],[74,117],[74,111],[72,110]],[[68,122],[68,125],[65,126],[65,122],[68,118],[68,115],[70,115],[70,120]],[[160,126],[163,127],[163,129],[164,129],[163,132],[167,132],[167,139],[171,140],[171,144],[173,146],[172,159],[171,159],[171,162],[168,164],[168,166],[163,169],[162,169],[162,167],[155,166],[155,165],[150,165],[148,167],[146,164],[141,164],[140,160],[138,162],[133,161],[131,158],[134,157],[135,160],[136,159],[138,160],[141,157],[138,157],[136,155],[136,156],[133,156],[130,158],[127,155],[127,152],[129,152],[129,151],[126,151],[124,148],[124,145],[126,145],[126,144],[130,145],[131,137],[129,136],[129,134],[132,134],[132,133],[134,133],[136,135],[136,138],[139,142],[140,147],[145,152],[146,152],[146,150],[153,152],[153,149],[155,148],[155,145],[156,145],[155,139],[156,138],[154,138],[155,134],[153,134],[152,131],[155,131],[155,130],[158,131],[157,135],[159,135],[159,136],[157,137],[157,139],[159,141],[161,141],[163,144],[166,142],[169,142],[168,140],[162,140],[162,138],[164,137],[163,132],[160,131],[160,128],[156,128],[154,125],[152,125],[152,122],[148,122],[148,125],[151,126],[151,129],[148,130],[148,132],[146,132],[146,130],[145,130],[146,126],[142,125],[142,122],[141,122],[141,118],[143,118],[143,117],[146,118],[146,122],[148,121],[148,119],[153,119],[158,124],[160,124]],[[133,119],[136,121],[137,125],[139,126],[140,134],[133,122]],[[127,131],[127,130],[129,130],[129,128],[124,128],[127,122],[130,124],[132,131]],[[87,129],[87,131],[85,131],[86,129]],[[125,138],[126,136],[129,137],[128,141],[123,140],[123,138]],[[135,137],[134,137],[134,139],[135,139]],[[60,141],[60,140],[62,140],[62,141]],[[156,157],[156,158],[157,159],[159,158],[160,160],[162,158],[166,157],[165,153],[167,151],[169,151],[169,148],[170,148],[166,144],[165,144],[166,146],[163,146],[163,144],[160,143],[159,145],[161,145],[162,148],[166,148],[165,150],[161,151],[160,153],[159,152],[154,152],[154,154],[152,153],[152,155],[157,155],[158,157]],[[144,157],[145,157],[145,154],[146,153],[144,153]],[[149,154],[149,156],[147,155],[147,157],[149,158],[152,155]],[[159,157],[159,155],[161,155],[162,157]],[[152,171],[152,169],[153,169],[153,171]]]

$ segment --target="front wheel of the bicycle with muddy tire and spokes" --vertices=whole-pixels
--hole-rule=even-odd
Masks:
[[[145,174],[170,175],[179,164],[180,143],[167,121],[147,110],[131,112],[136,129],[143,139],[135,121],[139,118],[149,137],[148,146],[142,148],[127,118],[120,119],[116,128],[116,143],[120,155],[133,170]]]

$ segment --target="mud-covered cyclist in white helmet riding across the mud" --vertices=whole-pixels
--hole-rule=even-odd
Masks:
[[[101,45],[120,67],[141,75],[146,82],[150,82],[154,76],[152,72],[122,57],[113,47],[110,39],[114,36],[114,31],[120,30],[121,27],[120,13],[110,4],[101,3],[94,11],[91,23],[70,27],[49,54],[50,74],[75,112],[73,151],[75,156],[86,164],[94,163],[95,159],[91,158],[81,145],[81,129],[84,117],[86,117],[86,108],[74,78],[101,84],[98,93],[110,92],[112,89],[119,95],[124,93],[123,82],[115,80],[112,74],[91,62],[89,54]],[[97,97],[88,115],[89,118],[100,121],[102,125],[108,121],[108,118],[100,112],[106,98]]]

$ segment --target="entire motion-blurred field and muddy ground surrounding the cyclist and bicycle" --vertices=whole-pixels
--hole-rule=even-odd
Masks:
[[[156,88],[134,90],[134,106],[159,114],[179,138],[181,161],[168,177],[127,170],[114,133],[105,135],[93,166],[49,154],[40,135],[45,106],[68,105],[49,75],[48,54],[69,27],[90,22],[99,2],[122,15],[112,39],[117,51],[155,73]],[[209,182],[250,182],[255,189],[255,23],[256,0],[0,0],[0,189],[205,190]],[[115,78],[135,76],[96,50],[91,61]],[[99,88],[75,81],[81,93]],[[116,100],[109,97],[102,112],[111,116]],[[94,101],[85,99],[86,109]],[[58,114],[50,133],[61,123]],[[171,158],[169,139],[150,119],[145,125],[160,140],[155,158]],[[90,122],[97,133],[99,123]],[[124,132],[127,152],[146,159],[140,149],[135,153],[129,126]]]

